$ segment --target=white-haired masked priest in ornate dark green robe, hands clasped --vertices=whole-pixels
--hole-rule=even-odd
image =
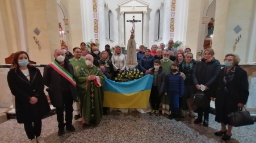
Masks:
[[[81,94],[82,124],[99,124],[102,119],[104,74],[93,64],[93,56],[85,56],[86,65],[75,75]]]

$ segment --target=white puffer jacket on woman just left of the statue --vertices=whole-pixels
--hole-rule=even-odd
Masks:
[[[125,55],[123,53],[113,54],[112,57],[111,57],[111,61],[113,63],[115,71],[117,71],[117,69],[125,70],[126,58],[125,58]]]

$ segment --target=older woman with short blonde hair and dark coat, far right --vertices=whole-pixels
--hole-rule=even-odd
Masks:
[[[247,73],[238,66],[240,58],[236,54],[226,54],[225,67],[220,70],[216,78],[211,99],[215,101],[215,121],[221,124],[221,130],[215,132],[216,136],[223,136],[223,140],[230,140],[232,128],[228,114],[237,112],[238,107],[244,107],[249,96],[249,82]],[[215,100],[214,100],[215,98]],[[228,129],[226,129],[228,125]]]

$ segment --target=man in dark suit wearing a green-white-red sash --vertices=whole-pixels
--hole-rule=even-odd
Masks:
[[[55,60],[44,68],[44,84],[49,89],[51,103],[56,107],[58,121],[58,136],[64,134],[64,128],[74,132],[72,125],[73,101],[77,100],[73,66],[65,60],[65,53],[61,49],[54,51]],[[64,123],[64,107],[66,111]]]

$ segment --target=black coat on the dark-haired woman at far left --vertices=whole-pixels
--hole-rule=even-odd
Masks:
[[[18,123],[34,121],[37,117],[43,117],[51,111],[44,93],[43,77],[40,70],[34,66],[28,66],[28,71],[30,72],[30,81],[19,68],[11,69],[7,75],[11,93],[15,96]],[[36,104],[29,102],[32,96],[37,98]]]

